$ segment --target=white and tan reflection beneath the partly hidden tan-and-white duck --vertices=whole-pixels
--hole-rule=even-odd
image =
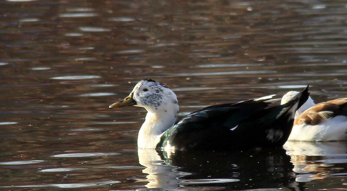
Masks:
[[[283,148],[291,158],[297,182],[333,177],[345,169],[347,142],[287,141]]]

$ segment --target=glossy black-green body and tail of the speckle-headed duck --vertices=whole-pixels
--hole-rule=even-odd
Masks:
[[[293,127],[294,114],[307,100],[307,88],[291,101],[249,99],[203,108],[178,120],[164,132],[158,149],[233,150],[282,146]]]

